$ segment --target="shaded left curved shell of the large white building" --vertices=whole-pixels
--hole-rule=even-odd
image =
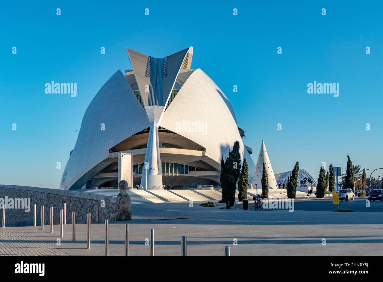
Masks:
[[[101,124],[105,124],[105,130],[101,130]],[[109,157],[110,148],[147,127],[146,111],[124,74],[117,71],[85,111],[79,137],[62,174],[60,189],[81,189],[103,168],[96,166]],[[102,165],[105,167],[107,163]]]

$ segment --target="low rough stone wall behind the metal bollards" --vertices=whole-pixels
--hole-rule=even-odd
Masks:
[[[53,207],[53,223],[60,223],[60,209],[67,203],[67,224],[72,223],[72,211],[75,212],[76,223],[87,223],[87,213],[92,214],[92,222],[96,222],[96,203],[98,203],[98,222],[104,219],[116,220],[116,197],[94,193],[58,190],[49,188],[0,185],[0,198],[30,199],[29,212],[25,209],[8,208],[5,212],[5,226],[11,223],[33,225],[33,204],[36,204],[36,224],[41,225],[41,206],[44,206],[44,224],[50,224],[49,208]],[[2,214],[3,211],[1,210]],[[13,224],[15,225],[15,224]]]

